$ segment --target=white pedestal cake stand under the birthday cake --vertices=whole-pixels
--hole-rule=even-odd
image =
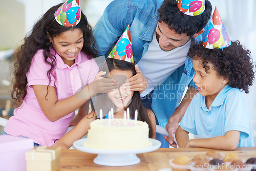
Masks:
[[[95,149],[84,147],[83,144],[86,141],[87,138],[77,140],[73,143],[73,146],[81,152],[98,154],[93,162],[104,166],[128,166],[138,164],[140,159],[136,154],[153,152],[161,146],[160,141],[150,138],[152,146],[147,148],[124,150]]]

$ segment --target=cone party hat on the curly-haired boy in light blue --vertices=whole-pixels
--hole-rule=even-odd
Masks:
[[[208,49],[226,48],[231,45],[227,31],[222,23],[221,16],[217,7],[215,7],[214,14],[210,21],[203,46]]]

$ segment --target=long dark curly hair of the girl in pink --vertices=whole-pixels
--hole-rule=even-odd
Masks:
[[[27,94],[28,81],[26,73],[29,71],[33,56],[39,49],[44,50],[45,62],[51,66],[50,70],[47,72],[49,83],[51,81],[50,75],[53,75],[56,66],[56,57],[50,54],[50,49],[53,47],[47,36],[47,32],[50,37],[53,38],[68,30],[81,29],[83,33],[83,48],[81,49],[81,52],[86,53],[89,59],[96,57],[97,51],[95,48],[92,28],[82,12],[80,22],[74,27],[61,26],[55,20],[54,13],[62,4],[63,3],[53,6],[42,15],[38,22],[33,26],[30,34],[24,38],[24,44],[20,47],[20,50],[17,53],[17,60],[14,63],[14,78],[12,81],[13,89],[11,91],[11,97],[15,99],[15,103],[22,102]]]

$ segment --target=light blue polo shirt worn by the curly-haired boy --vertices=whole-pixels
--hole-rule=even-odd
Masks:
[[[240,131],[238,146],[253,146],[250,112],[244,93],[229,85],[220,91],[209,109],[205,104],[205,96],[196,94],[180,126],[199,138],[212,138],[223,136],[228,131]]]

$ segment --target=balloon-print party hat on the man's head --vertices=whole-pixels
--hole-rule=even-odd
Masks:
[[[205,0],[176,0],[177,6],[181,12],[186,15],[200,15],[205,10]]]

